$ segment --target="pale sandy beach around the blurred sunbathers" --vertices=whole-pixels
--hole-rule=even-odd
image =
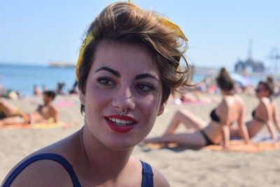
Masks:
[[[219,95],[204,95],[221,99]],[[258,104],[253,96],[242,96],[246,103],[246,120]],[[22,111],[34,111],[41,97],[7,100]],[[275,99],[280,104],[280,99]],[[0,129],[0,181],[8,171],[30,153],[62,139],[83,125],[77,96],[57,96],[60,120],[71,123],[70,128],[50,129]],[[167,104],[165,113],[158,117],[149,137],[160,135],[177,109],[187,109],[209,121],[209,112],[216,102],[176,105]],[[179,131],[183,131],[183,127]],[[264,127],[261,134],[267,134]],[[165,174],[171,186],[280,186],[280,150],[245,153],[241,151],[210,151],[179,148],[144,149],[136,146],[133,155],[144,160]]]

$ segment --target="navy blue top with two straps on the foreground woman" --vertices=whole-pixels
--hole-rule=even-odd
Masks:
[[[78,177],[76,176],[72,165],[61,155],[52,154],[52,153],[34,155],[33,157],[25,160],[25,162],[22,162],[22,164],[20,164],[17,168],[15,168],[13,172],[8,176],[6,181],[3,183],[3,187],[9,187],[10,184],[15,179],[15,177],[18,176],[18,174],[20,174],[20,172],[22,172],[22,170],[25,169],[25,167],[27,167],[32,162],[35,162],[37,160],[54,160],[56,162],[59,162],[59,164],[61,164],[66,169],[66,172],[68,172],[71,181],[73,183],[73,187],[81,187],[80,181],[78,181]],[[142,164],[141,187],[153,187],[153,170],[151,165],[143,161],[141,161],[141,164]]]

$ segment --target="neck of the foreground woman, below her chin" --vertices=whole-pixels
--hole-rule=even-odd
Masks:
[[[88,129],[83,127],[80,133],[80,144],[83,147],[85,165],[81,168],[86,176],[94,183],[104,183],[109,179],[117,179],[118,174],[127,165],[133,148],[112,150],[99,142]]]

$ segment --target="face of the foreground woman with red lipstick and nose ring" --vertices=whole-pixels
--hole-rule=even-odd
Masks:
[[[92,137],[107,147],[131,148],[151,131],[164,105],[160,71],[143,46],[100,43],[85,95],[85,121]],[[120,116],[118,111],[127,111]]]

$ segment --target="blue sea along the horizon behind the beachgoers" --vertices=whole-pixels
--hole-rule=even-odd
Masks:
[[[194,74],[193,81],[202,81],[207,74]],[[216,75],[213,75],[216,76]],[[260,78],[250,78],[253,85]],[[50,67],[27,64],[0,64],[0,84],[6,90],[15,90],[22,96],[33,95],[34,85],[38,88],[56,90],[57,83],[65,83],[64,90],[73,88],[76,82],[74,67]]]

